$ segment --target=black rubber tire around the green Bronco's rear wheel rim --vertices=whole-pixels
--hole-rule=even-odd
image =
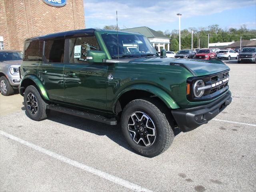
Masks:
[[[36,114],[33,114],[30,111],[29,107],[28,107],[27,98],[28,98],[28,94],[30,94],[30,93],[32,93],[36,97],[36,100],[37,100],[38,110],[37,110]],[[47,104],[42,99],[38,90],[32,85],[28,86],[25,89],[25,92],[24,92],[24,106],[26,108],[27,115],[32,120],[41,121],[41,120],[44,120],[44,119],[47,118],[47,115],[46,115],[46,106],[47,106]]]

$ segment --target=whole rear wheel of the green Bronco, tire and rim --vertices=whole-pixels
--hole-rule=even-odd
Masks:
[[[28,116],[35,121],[46,119],[46,102],[42,99],[38,90],[30,85],[24,92],[24,105]]]

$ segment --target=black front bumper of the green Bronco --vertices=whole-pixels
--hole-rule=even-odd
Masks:
[[[228,91],[216,101],[188,109],[172,110],[172,115],[182,132],[191,131],[217,116],[232,101],[231,92]]]

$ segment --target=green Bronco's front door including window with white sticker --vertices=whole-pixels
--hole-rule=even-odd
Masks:
[[[94,36],[69,39],[70,63],[64,66],[64,96],[68,103],[106,110],[108,66],[88,64],[87,50],[100,50]]]

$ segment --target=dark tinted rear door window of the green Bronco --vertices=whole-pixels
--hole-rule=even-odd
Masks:
[[[46,40],[44,46],[44,56],[46,62],[63,63],[64,62],[65,39]]]

